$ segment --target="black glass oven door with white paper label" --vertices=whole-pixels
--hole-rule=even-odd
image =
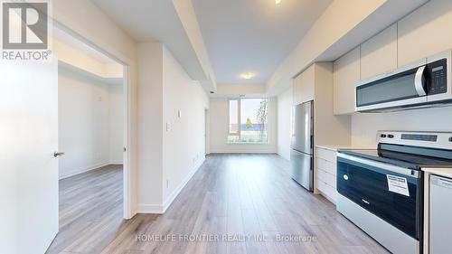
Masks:
[[[422,183],[419,171],[338,154],[337,192],[419,240]]]

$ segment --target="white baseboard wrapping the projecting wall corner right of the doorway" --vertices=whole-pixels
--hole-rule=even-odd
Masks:
[[[198,172],[198,170],[201,168],[201,165],[204,163],[205,157],[202,156],[202,159],[193,166],[193,169],[190,171],[189,174],[184,178],[184,181],[180,183],[177,188],[174,190],[171,195],[165,200],[165,202],[160,204],[145,204],[140,203],[138,204],[137,213],[156,213],[156,214],[163,214],[166,212],[168,207],[174,202],[174,199],[181,193],[182,189],[184,189],[185,185],[192,179],[193,175]]]

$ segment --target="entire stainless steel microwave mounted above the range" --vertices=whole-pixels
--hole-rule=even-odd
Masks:
[[[356,111],[428,108],[452,103],[452,50],[440,52],[369,80],[355,88]]]

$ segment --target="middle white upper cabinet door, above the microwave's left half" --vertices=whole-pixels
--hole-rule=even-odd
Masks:
[[[361,44],[361,80],[397,68],[397,24]]]

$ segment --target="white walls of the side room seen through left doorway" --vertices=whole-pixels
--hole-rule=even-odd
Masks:
[[[115,91],[111,101],[110,89]],[[122,85],[110,85],[60,67],[58,96],[59,148],[65,152],[60,157],[60,178],[121,164],[122,153],[118,155],[117,151],[123,146]]]

